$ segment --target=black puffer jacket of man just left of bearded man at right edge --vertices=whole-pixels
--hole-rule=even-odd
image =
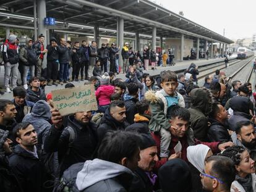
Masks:
[[[208,129],[208,141],[223,141],[228,142],[231,141],[231,137],[228,133],[228,128],[224,126],[223,123],[219,122],[216,119],[209,119],[210,120],[210,127]]]

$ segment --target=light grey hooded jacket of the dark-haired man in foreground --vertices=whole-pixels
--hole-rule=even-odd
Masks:
[[[122,165],[93,159],[86,161],[77,173],[75,184],[83,192],[128,191],[132,178],[132,171]]]

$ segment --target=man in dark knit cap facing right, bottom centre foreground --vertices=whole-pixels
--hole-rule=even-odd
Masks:
[[[152,192],[157,190],[157,176],[152,172],[158,162],[156,143],[149,134],[140,134],[140,140],[140,161],[130,191]]]

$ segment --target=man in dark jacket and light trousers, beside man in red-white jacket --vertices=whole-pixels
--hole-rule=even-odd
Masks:
[[[30,72],[30,77],[35,77],[35,65],[36,65],[36,52],[35,49],[32,48],[33,41],[30,38],[26,39],[26,46],[20,48],[20,63],[19,65],[23,65],[23,87],[27,90],[27,76],[28,70]]]

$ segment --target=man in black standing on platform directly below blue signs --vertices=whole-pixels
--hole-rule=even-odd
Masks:
[[[47,45],[47,85],[58,85],[56,80],[58,78],[59,68],[59,46],[55,38]]]

